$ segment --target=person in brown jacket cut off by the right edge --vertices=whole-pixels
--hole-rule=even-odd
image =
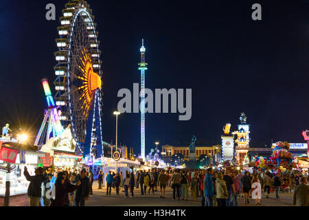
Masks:
[[[300,184],[295,187],[293,205],[309,206],[309,186],[307,177],[301,177]]]

